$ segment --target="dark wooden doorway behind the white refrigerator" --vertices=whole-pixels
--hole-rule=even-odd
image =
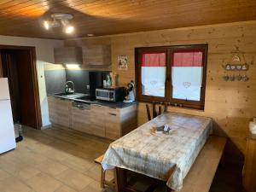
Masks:
[[[0,55],[3,77],[9,79],[14,122],[41,129],[35,48],[0,45]]]

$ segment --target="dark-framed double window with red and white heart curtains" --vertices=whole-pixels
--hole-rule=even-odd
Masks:
[[[137,100],[204,108],[207,44],[137,48]]]

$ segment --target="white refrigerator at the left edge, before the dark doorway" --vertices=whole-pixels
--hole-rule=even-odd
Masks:
[[[0,154],[16,148],[8,79],[0,78]]]

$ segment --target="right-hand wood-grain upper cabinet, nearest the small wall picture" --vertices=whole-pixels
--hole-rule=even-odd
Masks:
[[[111,65],[110,45],[83,46],[83,62],[84,62],[84,67],[110,66]]]

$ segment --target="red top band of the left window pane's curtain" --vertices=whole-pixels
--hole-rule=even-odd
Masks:
[[[143,67],[165,67],[166,53],[145,53],[143,54]]]

